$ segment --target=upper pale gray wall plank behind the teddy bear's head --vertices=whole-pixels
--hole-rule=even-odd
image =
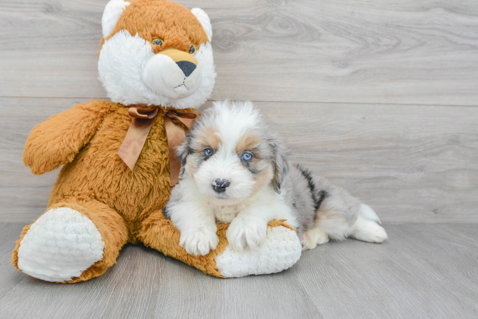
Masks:
[[[106,0],[3,0],[0,96],[104,97]],[[478,105],[475,0],[179,1],[213,24],[213,99]]]

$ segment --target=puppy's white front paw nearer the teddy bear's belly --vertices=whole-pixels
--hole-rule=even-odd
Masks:
[[[179,246],[184,247],[188,254],[204,256],[218,247],[219,237],[215,232],[194,230],[181,233]]]

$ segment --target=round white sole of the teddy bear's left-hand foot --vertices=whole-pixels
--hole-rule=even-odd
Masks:
[[[69,281],[103,258],[104,243],[93,222],[59,207],[44,213],[23,237],[18,267],[45,281]]]

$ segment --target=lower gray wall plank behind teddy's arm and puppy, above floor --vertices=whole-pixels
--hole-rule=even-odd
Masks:
[[[29,131],[80,99],[0,98],[0,221],[45,209],[57,171],[34,176]],[[373,206],[387,223],[477,223],[478,108],[256,103],[294,150],[292,160]]]

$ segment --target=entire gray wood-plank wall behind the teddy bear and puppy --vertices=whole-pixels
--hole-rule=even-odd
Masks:
[[[106,0],[0,0],[0,222],[31,222],[58,171],[29,131],[88,98]],[[477,223],[476,0],[181,0],[213,24],[212,99],[255,101],[295,161],[386,223]]]

